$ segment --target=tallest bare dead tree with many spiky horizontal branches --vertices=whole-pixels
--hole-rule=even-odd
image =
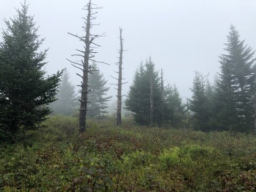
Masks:
[[[67,59],[69,62],[71,62],[71,65],[82,70],[82,72],[83,72],[82,75],[80,75],[78,73],[76,74],[82,78],[81,85],[77,85],[77,86],[82,87],[81,99],[79,99],[79,101],[81,103],[81,106],[79,109],[79,132],[84,132],[85,128],[86,128],[86,111],[87,111],[87,102],[88,102],[87,94],[90,91],[89,85],[88,85],[88,74],[92,73],[92,71],[93,71],[91,68],[91,65],[89,65],[89,61],[105,63],[102,61],[95,61],[94,59],[92,59],[92,58],[94,58],[94,54],[97,53],[93,49],[100,46],[98,44],[95,44],[94,40],[99,37],[104,36],[104,34],[102,34],[102,35],[91,34],[92,27],[95,25],[99,25],[99,24],[92,23],[92,21],[97,18],[94,15],[98,13],[97,11],[94,11],[94,10],[101,9],[101,8],[102,7],[97,7],[97,5],[92,4],[91,0],[90,0],[89,3],[87,5],[85,5],[83,8],[83,10],[87,11],[87,17],[83,18],[85,26],[82,26],[83,30],[85,31],[85,36],[84,35],[78,36],[78,35],[68,33],[69,35],[78,38],[79,41],[82,41],[84,43],[84,50],[76,49],[76,51],[78,51],[79,53],[71,55],[71,56],[80,57],[81,60],[70,61]],[[107,63],[105,63],[105,64],[107,64]]]

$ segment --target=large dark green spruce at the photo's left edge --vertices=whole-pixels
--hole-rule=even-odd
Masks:
[[[50,113],[62,72],[45,76],[46,52],[38,52],[44,39],[38,39],[33,17],[22,5],[18,14],[5,20],[0,45],[0,127],[12,135],[33,129]]]

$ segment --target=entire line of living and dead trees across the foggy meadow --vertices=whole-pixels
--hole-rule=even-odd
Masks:
[[[81,70],[82,78],[79,96],[69,82],[67,70],[46,75],[43,70],[48,50],[39,51],[44,39],[39,39],[34,18],[27,14],[28,6],[22,5],[18,14],[4,20],[7,27],[3,30],[0,44],[0,135],[12,137],[29,129],[36,129],[46,115],[55,113],[70,115],[79,107],[79,131],[86,127],[86,117],[102,118],[107,114],[109,87],[107,80],[99,71],[94,59],[94,40],[104,36],[93,35],[91,29],[96,19],[97,7],[89,1],[85,6],[84,35],[74,35],[84,43],[84,50],[77,49],[73,54],[78,61],[67,59],[71,65]],[[117,113],[116,124],[121,124],[123,82],[123,37],[119,30],[120,49],[118,57]],[[208,75],[195,72],[193,93],[186,102],[182,101],[178,87],[166,83],[163,70],[156,69],[149,57],[138,66],[133,83],[127,93],[125,108],[132,112],[136,122],[143,125],[189,126],[196,130],[230,130],[253,132],[256,124],[255,99],[255,58],[254,51],[245,41],[239,39],[238,30],[231,25],[225,54],[220,55],[220,72],[211,84]],[[63,75],[63,76],[62,76]],[[78,101],[77,101],[78,100]]]

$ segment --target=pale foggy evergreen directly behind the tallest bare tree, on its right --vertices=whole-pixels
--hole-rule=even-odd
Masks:
[[[112,98],[112,96],[106,97],[110,87],[106,87],[107,80],[100,73],[95,62],[91,67],[93,74],[89,74],[88,78],[90,91],[88,93],[87,115],[92,118],[103,118],[108,113],[108,101]]]

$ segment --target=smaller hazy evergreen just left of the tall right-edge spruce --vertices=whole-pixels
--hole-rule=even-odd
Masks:
[[[211,94],[212,87],[208,82],[208,75],[195,73],[193,87],[190,89],[193,92],[191,99],[188,100],[189,110],[192,112],[194,129],[201,131],[212,130],[211,126]]]

